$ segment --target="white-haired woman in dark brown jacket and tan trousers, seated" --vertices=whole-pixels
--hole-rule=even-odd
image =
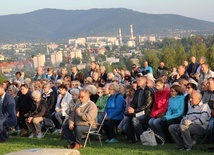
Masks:
[[[30,132],[29,138],[33,138],[34,136],[37,138],[43,138],[41,122],[44,117],[51,118],[51,115],[48,111],[46,101],[41,98],[41,93],[39,90],[32,92],[32,98],[34,103],[28,113],[28,118],[25,120]]]

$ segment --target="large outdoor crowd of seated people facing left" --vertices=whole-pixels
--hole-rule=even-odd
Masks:
[[[125,134],[127,143],[139,142],[148,128],[179,149],[193,148],[189,135],[205,134],[211,143],[214,74],[204,57],[197,62],[193,56],[187,63],[171,70],[161,62],[156,79],[147,61],[142,68],[133,64],[130,71],[114,68],[108,73],[104,66],[91,62],[86,77],[76,66],[70,74],[67,68],[45,71],[38,67],[32,79],[17,72],[11,82],[0,86],[4,89],[0,91],[0,130],[13,126],[21,129],[21,136],[43,138],[41,122],[50,118],[56,128],[53,133],[63,131],[68,148],[79,149],[89,124],[101,123],[106,116],[102,130],[106,143],[118,143],[118,131]],[[4,109],[5,94],[11,96],[14,109]],[[11,123],[5,119],[9,113],[15,116]],[[7,140],[8,135],[0,134],[0,141]]]

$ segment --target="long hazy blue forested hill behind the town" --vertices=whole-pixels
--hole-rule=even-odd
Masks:
[[[49,42],[86,36],[162,34],[169,29],[213,33],[214,23],[173,14],[146,14],[129,9],[42,9],[0,16],[0,43]]]

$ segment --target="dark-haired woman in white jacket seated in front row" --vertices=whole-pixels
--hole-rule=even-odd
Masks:
[[[69,108],[69,103],[72,99],[71,94],[67,91],[67,86],[64,84],[61,84],[59,87],[59,95],[57,97],[56,107],[55,107],[55,113],[53,115],[55,116],[57,123],[59,126],[63,124],[63,117],[66,117],[66,111]],[[54,131],[54,133],[61,133],[60,127]]]

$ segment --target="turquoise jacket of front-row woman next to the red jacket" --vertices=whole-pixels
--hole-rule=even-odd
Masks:
[[[165,115],[167,120],[183,116],[184,114],[184,95],[170,97],[168,109]]]

